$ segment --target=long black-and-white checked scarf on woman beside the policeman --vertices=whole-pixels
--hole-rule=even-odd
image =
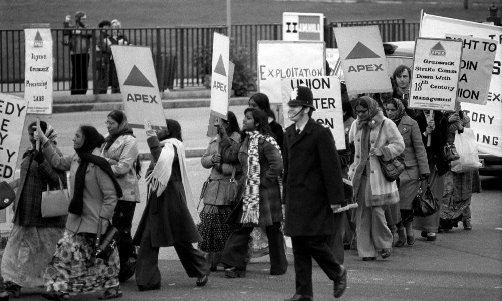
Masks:
[[[264,139],[274,145],[279,154],[281,149],[274,138],[269,135],[262,135],[258,131],[247,132],[249,136],[248,156],[247,156],[247,180],[242,205],[243,224],[258,225],[260,216],[260,162],[258,157],[258,141]],[[279,184],[279,195],[282,193],[282,172],[277,176]]]

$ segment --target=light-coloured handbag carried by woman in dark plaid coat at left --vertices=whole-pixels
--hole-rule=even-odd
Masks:
[[[63,182],[59,179],[59,189],[42,192],[42,200],[40,203],[42,217],[55,217],[68,215],[68,207],[70,206],[70,195],[68,189],[63,188]]]

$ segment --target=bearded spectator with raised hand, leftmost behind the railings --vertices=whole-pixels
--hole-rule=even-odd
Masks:
[[[84,12],[75,14],[75,25],[70,25],[70,15],[66,15],[63,22],[63,36],[68,36],[66,40],[70,47],[71,60],[71,94],[85,94],[87,92],[87,68],[89,67],[89,46],[91,31],[85,30],[87,25],[87,15]]]

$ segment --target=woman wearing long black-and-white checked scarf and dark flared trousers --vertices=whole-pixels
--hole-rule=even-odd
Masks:
[[[264,227],[269,246],[270,274],[282,275],[288,262],[284,251],[284,237],[280,230],[283,220],[281,207],[283,160],[281,150],[272,137],[267,115],[257,109],[244,111],[243,142],[232,145],[224,130],[221,137],[222,162],[240,161],[245,183],[242,200],[229,220],[239,226],[226,241],[221,262],[226,266],[225,276],[244,277],[246,273],[247,245],[254,227]]]

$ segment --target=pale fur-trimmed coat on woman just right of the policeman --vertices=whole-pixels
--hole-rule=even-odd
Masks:
[[[382,122],[384,122],[382,134],[380,135],[380,139],[375,141]],[[365,168],[366,177],[368,178],[366,183],[369,183],[365,189],[366,206],[396,204],[399,202],[399,192],[396,181],[389,182],[384,177],[378,157],[371,156],[369,160],[367,160],[368,157],[363,156],[362,153],[363,147],[366,149],[374,147],[382,151],[385,160],[390,160],[403,153],[405,149],[403,137],[399,133],[396,124],[384,117],[381,111],[369,120],[367,124],[370,128],[369,140],[364,141],[364,126],[361,127],[361,122],[359,120],[355,120],[352,123],[349,132],[349,141],[350,143],[353,142],[355,146],[354,162],[349,169],[349,176],[354,184],[354,192],[356,194],[358,193],[359,184],[361,182],[360,179]],[[366,152],[368,152],[368,150],[364,153]],[[365,161],[366,164],[364,165],[362,161]]]

